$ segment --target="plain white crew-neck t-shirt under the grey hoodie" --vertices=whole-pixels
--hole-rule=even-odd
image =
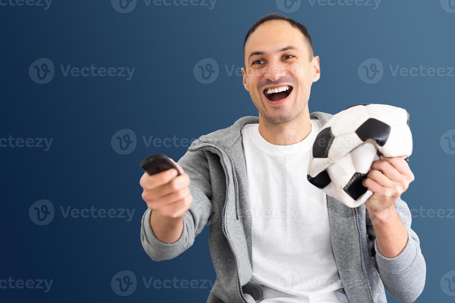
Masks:
[[[263,303],[347,303],[330,244],[325,193],[307,179],[319,132],[291,145],[273,145],[259,124],[242,128],[243,154],[253,216],[253,277]]]

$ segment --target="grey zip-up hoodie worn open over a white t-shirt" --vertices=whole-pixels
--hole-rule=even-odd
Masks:
[[[315,111],[311,119],[324,125],[333,115]],[[141,241],[154,261],[183,253],[211,220],[209,247],[217,274],[207,303],[255,303],[263,289],[250,281],[253,273],[252,214],[241,129],[258,123],[245,116],[232,126],[200,136],[178,163],[190,177],[192,205],[187,211],[181,237],[173,243],[157,239],[147,209],[142,217]],[[306,174],[306,172],[302,172]],[[425,285],[426,265],[419,238],[411,229],[411,213],[399,197],[395,208],[408,231],[404,250],[394,258],[378,252],[374,229],[365,206],[349,208],[327,196],[330,242],[336,267],[350,303],[387,302],[384,286],[402,302],[413,302]]]

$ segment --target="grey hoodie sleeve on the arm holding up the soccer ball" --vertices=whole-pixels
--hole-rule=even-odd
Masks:
[[[368,212],[367,233],[374,243],[374,261],[381,280],[389,293],[402,302],[414,302],[425,286],[426,264],[420,251],[420,241],[411,229],[411,212],[401,196],[395,201],[396,211],[408,232],[408,242],[403,251],[394,258],[384,257],[378,244]]]

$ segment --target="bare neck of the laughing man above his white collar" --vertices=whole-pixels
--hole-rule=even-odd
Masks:
[[[290,145],[305,139],[311,132],[308,106],[293,120],[271,123],[259,115],[259,133],[274,145]]]

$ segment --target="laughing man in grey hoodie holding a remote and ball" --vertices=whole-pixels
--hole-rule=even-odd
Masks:
[[[346,207],[312,186],[310,148],[332,115],[308,111],[319,57],[307,29],[271,14],[248,31],[243,85],[259,116],[199,137],[175,169],[144,174],[142,245],[152,260],[185,251],[211,220],[221,302],[413,302],[426,266],[400,195],[414,176],[400,157],[373,162],[374,194]],[[173,160],[172,160],[173,161]],[[175,162],[174,162],[175,163]]]

